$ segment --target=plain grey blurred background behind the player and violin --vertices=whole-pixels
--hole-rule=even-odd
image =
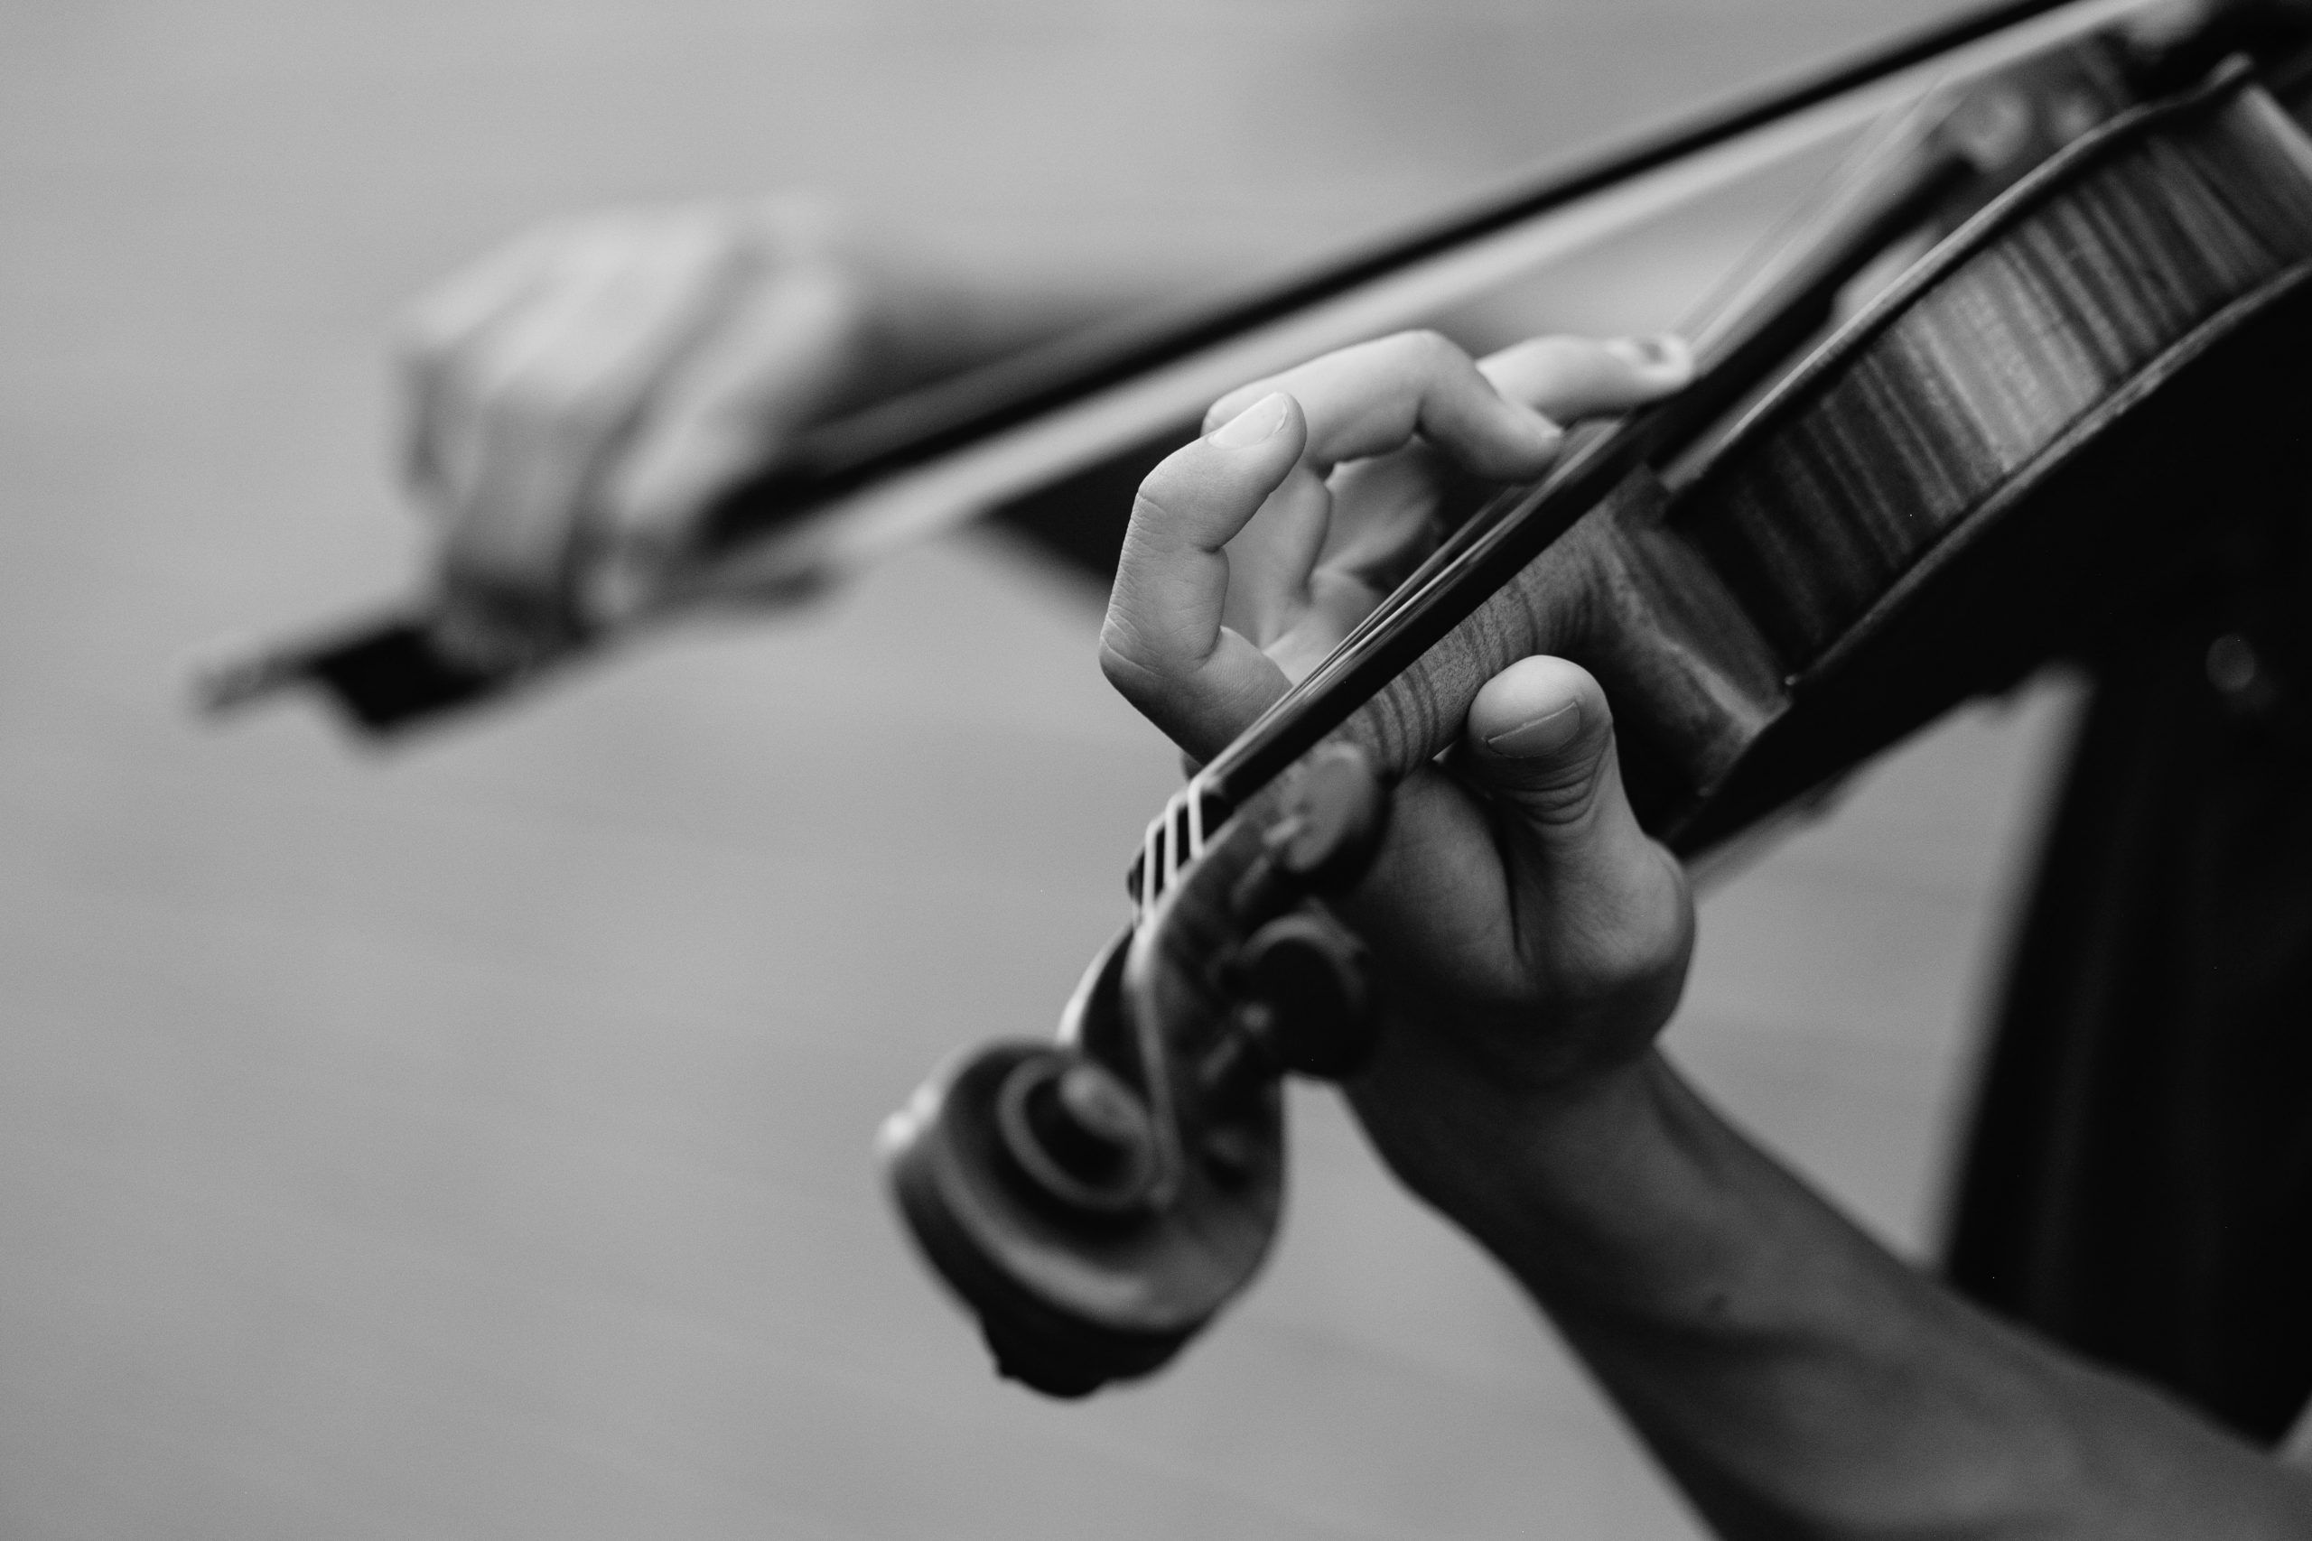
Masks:
[[[1184,286],[1947,9],[7,5],[0,1534],[1692,1536],[1325,1095],[1170,1375],[990,1377],[869,1141],[1050,1030],[1174,783],[1036,557],[950,538],[384,755],[203,730],[180,663],[416,571],[395,305],[536,217],[809,185]],[[1563,319],[1665,319],[1616,273]],[[2067,712],[1944,725],[1704,908],[1674,1054],[1912,1252]]]

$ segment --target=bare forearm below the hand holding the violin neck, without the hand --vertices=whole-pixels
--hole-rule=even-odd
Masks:
[[[2312,1483],[1905,1268],[1658,1056],[1581,1097],[1427,1104],[1452,1125],[1396,1130],[1399,1167],[1720,1534],[2312,1534]]]

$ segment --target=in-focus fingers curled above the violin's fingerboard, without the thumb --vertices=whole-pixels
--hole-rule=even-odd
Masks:
[[[1454,471],[1549,469],[1561,423],[1676,390],[1672,337],[1533,337],[1470,360],[1399,333],[1230,390],[1142,483],[1101,668],[1191,758],[1211,758],[1436,543]]]

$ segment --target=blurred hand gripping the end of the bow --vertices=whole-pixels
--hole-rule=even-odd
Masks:
[[[1105,300],[1010,293],[805,196],[520,236],[402,326],[407,474],[442,527],[453,640],[523,656],[650,605],[714,497],[798,430]]]

